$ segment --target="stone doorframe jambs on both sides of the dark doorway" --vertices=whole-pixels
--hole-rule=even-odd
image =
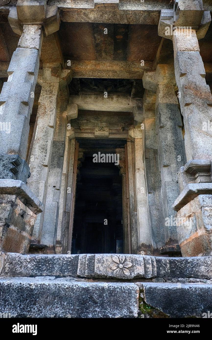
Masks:
[[[136,130],[135,133],[132,133]],[[116,139],[126,139],[125,159],[119,160],[119,174],[122,176],[122,205],[123,205],[123,236],[124,236],[124,253],[125,254],[149,254],[151,250],[151,232],[149,231],[149,222],[147,215],[147,199],[146,199],[146,185],[144,169],[136,163],[140,161],[143,164],[142,157],[142,139],[140,131],[137,129],[129,129],[130,133],[126,135],[126,131],[121,136],[116,136]],[[139,136],[136,134],[139,133]],[[76,136],[77,135],[77,136]],[[125,136],[124,136],[125,135]],[[126,138],[130,137],[130,138]],[[139,138],[139,144],[134,143],[135,137]],[[71,128],[67,132],[66,151],[64,155],[64,166],[66,167],[66,179],[63,181],[61,193],[61,205],[63,206],[62,223],[58,223],[56,253],[69,253],[71,251],[71,237],[74,222],[74,208],[75,208],[75,192],[77,182],[77,169],[79,165],[78,148],[79,144],[77,138],[81,138],[79,133],[75,133],[75,129]],[[84,137],[85,138],[85,137]],[[98,138],[98,137],[97,137]],[[95,139],[95,137],[93,138]],[[101,139],[101,138],[100,138]],[[138,142],[138,140],[137,140]],[[139,149],[139,150],[138,150]],[[139,154],[141,152],[141,154]],[[141,172],[141,173],[140,173]],[[141,178],[142,185],[141,188]],[[138,197],[139,192],[139,197]],[[145,197],[140,197],[144,195]],[[63,200],[63,202],[62,202]],[[145,216],[143,215],[145,211]],[[145,236],[142,238],[145,234]],[[143,235],[143,236],[142,236]],[[57,245],[60,246],[57,247]]]

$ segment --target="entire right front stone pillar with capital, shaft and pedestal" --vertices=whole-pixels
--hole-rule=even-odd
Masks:
[[[185,165],[177,174],[180,194],[174,202],[177,233],[183,256],[212,255],[212,96],[206,85],[198,39],[211,21],[202,0],[175,1],[169,20],[159,20],[159,35],[173,40],[175,76],[185,126]],[[174,33],[173,33],[173,26]],[[171,28],[171,30],[170,30]]]

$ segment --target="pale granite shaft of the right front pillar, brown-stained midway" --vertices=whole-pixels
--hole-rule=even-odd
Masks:
[[[179,97],[185,125],[185,152],[191,159],[212,159],[212,131],[203,131],[202,124],[212,115],[212,96],[206,85],[205,68],[197,51],[196,32],[186,39],[176,33],[173,37],[175,48],[175,75],[181,93]],[[180,50],[179,50],[180,48]]]

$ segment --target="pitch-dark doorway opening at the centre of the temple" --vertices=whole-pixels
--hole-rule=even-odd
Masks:
[[[93,162],[93,154],[115,154],[117,149],[105,149],[104,144],[86,149],[83,141],[78,142],[83,161],[77,176],[71,253],[123,253],[120,169],[114,163]]]

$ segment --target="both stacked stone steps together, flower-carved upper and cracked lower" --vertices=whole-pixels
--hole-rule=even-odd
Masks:
[[[210,256],[0,255],[0,312],[12,318],[202,318],[208,311]]]

